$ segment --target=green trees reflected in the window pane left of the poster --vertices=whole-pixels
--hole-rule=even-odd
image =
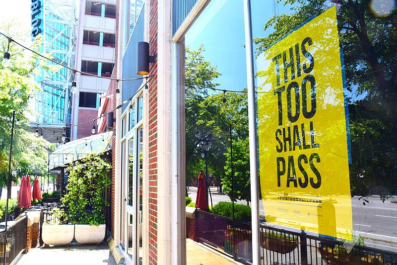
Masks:
[[[248,147],[248,103],[247,91],[241,93],[224,92],[210,94],[210,88],[219,84],[214,80],[220,76],[216,67],[210,65],[202,56],[204,47],[198,51],[186,49],[186,176],[197,177],[199,171],[205,167],[202,144],[210,141],[208,152],[208,172],[215,177],[217,183],[222,183],[227,194],[231,197],[230,177],[230,139],[229,125],[233,124],[233,142],[239,144],[240,151],[235,154],[239,165],[235,173],[241,184],[235,186],[239,197],[250,198],[249,182],[249,147]],[[223,103],[223,99],[226,100]],[[247,146],[243,147],[244,144]],[[227,157],[229,153],[229,160]],[[195,179],[193,179],[195,180]],[[195,181],[193,181],[195,183]],[[248,189],[247,189],[248,186]],[[242,194],[245,194],[244,196]]]

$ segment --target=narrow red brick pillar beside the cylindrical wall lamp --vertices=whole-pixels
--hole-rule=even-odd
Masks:
[[[149,6],[149,50],[157,54],[157,0]],[[157,60],[150,65],[149,83],[149,264],[157,264]]]

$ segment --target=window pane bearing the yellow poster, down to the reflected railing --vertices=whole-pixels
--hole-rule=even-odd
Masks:
[[[252,1],[261,215],[395,252],[396,3],[286,2]]]

